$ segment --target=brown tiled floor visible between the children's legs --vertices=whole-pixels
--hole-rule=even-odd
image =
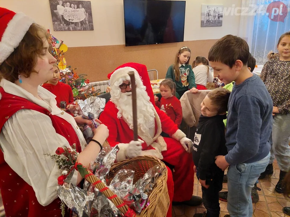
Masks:
[[[279,180],[279,168],[276,162],[273,164],[274,174],[271,177],[266,177],[263,180],[259,180],[257,186],[261,188],[259,193],[259,202],[253,204],[254,217],[288,217],[282,212],[284,206],[290,206],[290,199],[285,199],[282,194],[278,194],[274,191],[275,185]],[[201,197],[201,185],[199,184],[197,178],[194,179],[194,189],[193,195],[198,195]],[[227,184],[224,183],[223,191],[227,190]],[[221,213],[220,216],[228,214],[227,212],[227,202],[220,201]],[[192,217],[195,213],[202,213],[205,211],[203,206],[199,207],[189,207],[189,206],[173,206],[172,216],[180,217]]]

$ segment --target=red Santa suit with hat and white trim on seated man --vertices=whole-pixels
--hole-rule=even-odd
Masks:
[[[111,100],[106,104],[104,112],[100,116],[100,121],[109,129],[108,142],[111,146],[118,144],[120,150],[117,155],[118,160],[126,158],[125,152],[128,143],[133,139],[133,130],[127,123],[125,118],[118,114],[118,106],[112,101],[114,98],[114,85],[120,85],[120,79],[127,77],[129,71],[134,71],[135,79],[138,85],[146,86],[146,92],[149,103],[152,104],[151,112],[154,113],[155,132],[152,137],[150,134],[145,134],[138,127],[138,136],[143,140],[141,155],[155,156],[163,161],[174,166],[173,181],[174,181],[174,197],[173,201],[182,202],[192,198],[193,193],[193,160],[192,155],[187,153],[179,142],[185,137],[185,134],[178,129],[177,125],[158,107],[155,106],[153,91],[150,86],[150,79],[145,65],[136,63],[127,63],[118,67],[114,72],[108,75],[111,86]],[[141,81],[141,79],[142,81]],[[123,79],[129,80],[129,79]],[[119,82],[119,83],[118,83]],[[140,85],[140,83],[141,85]],[[143,83],[142,83],[143,82]],[[138,96],[137,92],[137,98]],[[119,117],[119,118],[118,118]],[[139,118],[139,117],[138,117]],[[139,119],[140,121],[140,119]],[[169,134],[171,138],[163,138],[160,136],[161,132]]]

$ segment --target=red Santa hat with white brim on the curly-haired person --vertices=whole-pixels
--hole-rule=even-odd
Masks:
[[[10,56],[34,21],[23,13],[0,8],[0,64]]]

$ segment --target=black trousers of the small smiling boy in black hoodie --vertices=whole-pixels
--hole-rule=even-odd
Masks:
[[[196,173],[199,179],[198,172]],[[214,174],[208,175],[206,184],[208,188],[201,186],[202,202],[206,209],[206,217],[219,217],[220,216],[220,203],[218,193],[223,189],[224,171],[220,170]]]

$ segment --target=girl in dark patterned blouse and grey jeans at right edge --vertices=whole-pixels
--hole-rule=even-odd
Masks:
[[[283,193],[282,180],[290,168],[290,31],[280,36],[277,49],[279,58],[272,58],[265,63],[261,79],[273,100],[271,159],[273,160],[274,154],[280,168],[279,181],[275,191]],[[271,159],[270,162],[272,162]],[[273,174],[273,165],[269,163],[260,178],[271,174]]]

